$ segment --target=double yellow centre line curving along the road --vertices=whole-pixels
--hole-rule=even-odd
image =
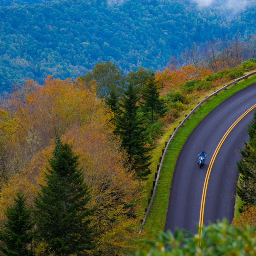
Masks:
[[[221,145],[223,144],[224,140],[227,138],[228,134],[231,132],[231,130],[236,126],[236,124],[238,124],[239,121],[241,121],[241,119],[246,116],[253,108],[256,107],[256,104],[253,105],[251,108],[249,108],[247,111],[244,112],[243,115],[241,115],[234,124],[232,124],[228,131],[224,134],[224,136],[222,137],[222,139],[219,142],[219,145],[217,146],[217,148],[215,149],[212,159],[210,161],[208,170],[206,172],[206,176],[205,176],[205,180],[204,180],[204,188],[203,188],[203,194],[202,194],[202,199],[201,199],[201,208],[200,208],[200,217],[199,217],[199,234],[202,233],[202,227],[203,227],[203,221],[204,221],[204,205],[205,205],[205,197],[206,197],[206,190],[207,190],[207,186],[208,186],[208,181],[209,181],[209,177],[210,177],[210,173],[212,171],[212,165],[215,161],[215,158],[220,150]]]

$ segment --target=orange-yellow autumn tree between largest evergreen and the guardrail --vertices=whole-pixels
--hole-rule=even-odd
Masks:
[[[95,218],[100,220],[100,229],[105,230],[98,243],[99,249],[103,255],[112,255],[113,247],[118,245],[119,251],[130,247],[128,241],[136,235],[135,230],[127,232],[137,221],[129,218],[136,212],[136,205],[132,208],[125,205],[139,197],[140,189],[134,173],[128,172],[127,155],[120,150],[121,141],[109,133],[105,125],[92,123],[73,127],[63,139],[72,143],[80,156],[85,180],[92,188],[90,203],[97,209]]]

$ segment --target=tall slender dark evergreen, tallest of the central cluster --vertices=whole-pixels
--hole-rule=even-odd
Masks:
[[[126,149],[132,168],[138,177],[150,173],[151,150],[148,143],[147,128],[138,116],[138,97],[134,86],[129,84],[121,102],[121,114],[116,115],[116,134],[120,135],[122,146]]]

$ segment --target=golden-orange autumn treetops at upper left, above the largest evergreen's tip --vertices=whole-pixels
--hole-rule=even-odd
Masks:
[[[72,125],[83,125],[99,118],[106,109],[96,98],[95,88],[84,88],[78,79],[59,80],[48,76],[44,86],[28,81],[13,93],[7,106],[10,117],[19,124],[13,135],[6,168],[11,173],[26,168],[29,160],[48,147],[57,134]],[[97,113],[97,115],[95,114]]]

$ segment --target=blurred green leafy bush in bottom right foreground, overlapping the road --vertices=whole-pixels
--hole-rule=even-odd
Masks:
[[[256,254],[256,238],[253,237],[254,228],[246,227],[243,231],[228,225],[228,221],[217,220],[202,228],[202,233],[192,234],[186,230],[176,229],[161,232],[156,241],[150,242],[150,251],[137,252],[136,256],[245,256]]]

